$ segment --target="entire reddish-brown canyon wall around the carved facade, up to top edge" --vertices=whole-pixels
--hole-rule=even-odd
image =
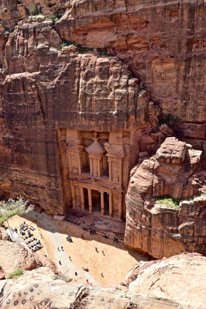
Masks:
[[[154,154],[167,136],[160,108],[179,118],[182,140],[204,149],[204,1],[21,2],[0,2],[1,195],[65,213],[66,129],[129,132],[128,181],[139,153]],[[62,17],[26,16],[34,4]],[[92,51],[60,50],[62,40]]]

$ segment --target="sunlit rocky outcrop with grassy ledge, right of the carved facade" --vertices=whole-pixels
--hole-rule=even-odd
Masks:
[[[136,167],[126,195],[127,247],[155,258],[183,251],[206,254],[206,184],[205,172],[199,169],[200,157],[201,151],[171,137],[156,155]],[[193,197],[172,209],[154,200],[166,195]]]

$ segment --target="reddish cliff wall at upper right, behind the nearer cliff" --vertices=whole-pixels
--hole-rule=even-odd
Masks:
[[[57,22],[65,40],[106,48],[129,63],[164,113],[205,120],[202,1],[73,1]],[[194,124],[195,125],[195,124]]]

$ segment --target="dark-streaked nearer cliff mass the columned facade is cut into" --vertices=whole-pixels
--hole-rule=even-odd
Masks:
[[[140,145],[131,146],[153,150],[157,143],[145,140],[145,133],[157,126],[160,109],[117,57],[82,55],[71,47],[60,52],[60,42],[53,23],[42,16],[21,21],[9,36],[2,71],[1,193],[22,194],[63,214],[57,128],[132,129],[131,139]],[[135,160],[131,156],[131,167]]]

